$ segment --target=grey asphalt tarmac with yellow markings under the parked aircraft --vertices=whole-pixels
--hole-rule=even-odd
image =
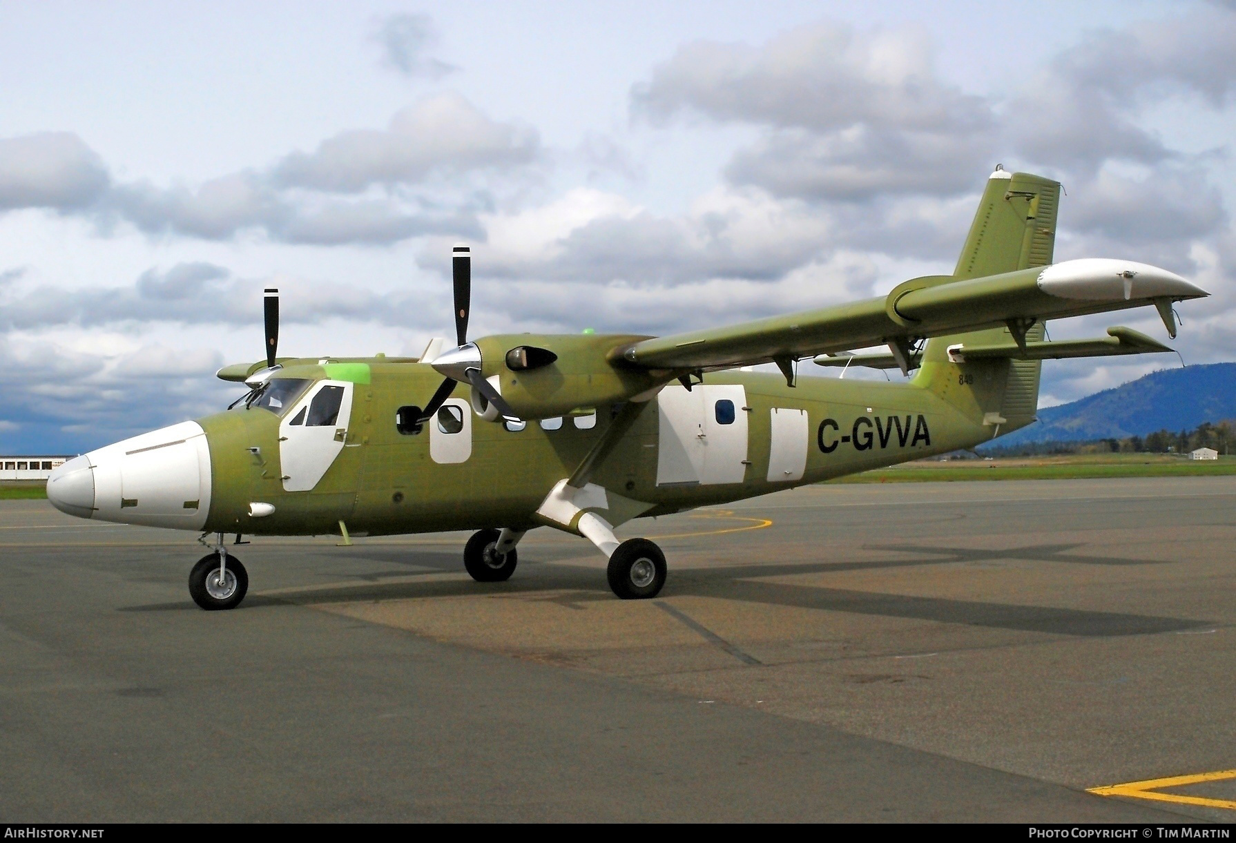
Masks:
[[[1234,504],[807,487],[624,525],[655,601],[546,529],[258,539],[203,612],[195,536],[2,502],[0,821],[1231,822]]]

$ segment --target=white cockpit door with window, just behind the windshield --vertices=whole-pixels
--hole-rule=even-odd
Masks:
[[[286,492],[308,492],[344,450],[352,417],[352,384],[319,381],[279,423]]]

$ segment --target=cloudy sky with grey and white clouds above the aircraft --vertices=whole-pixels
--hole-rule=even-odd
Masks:
[[[1064,183],[1057,260],[1210,289],[1177,345],[1232,360],[1232,44],[1200,0],[0,0],[0,451],[226,404],[267,286],[282,354],[419,354],[460,240],[473,335],[879,294],[952,271],[997,162]],[[1052,335],[1109,324],[1163,335]],[[1043,403],[1167,365],[1048,363]]]

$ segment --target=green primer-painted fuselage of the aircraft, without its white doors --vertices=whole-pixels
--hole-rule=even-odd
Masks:
[[[299,361],[298,361],[299,362]],[[529,422],[523,430],[471,418],[471,455],[439,464],[430,454],[430,425],[400,434],[396,413],[425,400],[441,381],[429,366],[368,358],[326,366],[290,363],[281,376],[315,371],[353,383],[345,444],[330,468],[307,492],[281,483],[279,417],[267,409],[235,409],[199,419],[210,444],[211,501],[205,530],[267,535],[337,533],[345,522],[353,535],[384,535],[488,527],[527,529],[541,523],[535,512],[555,483],[569,477],[609,424],[602,408],[591,429],[562,419],[557,430]],[[938,371],[939,370],[939,371]],[[947,370],[947,371],[943,371]],[[705,386],[745,389],[745,470],[742,482],[658,485],[659,407],[651,398],[634,425],[591,478],[627,502],[625,515],[679,512],[749,498],[802,483],[969,447],[996,430],[983,424],[984,405],[999,403],[1007,363],[926,365],[908,383],[805,377],[791,388],[776,375],[707,375]],[[978,386],[954,389],[958,372],[979,372]],[[993,378],[993,375],[997,376]],[[994,383],[984,397],[984,383]],[[1035,384],[1037,387],[1037,383]],[[675,383],[670,388],[681,388]],[[696,387],[698,389],[698,387]],[[459,387],[456,397],[464,397]],[[801,478],[766,480],[772,408],[807,413],[807,460]],[[1031,410],[1032,413],[1032,410]],[[1009,419],[1010,430],[1031,419]],[[250,517],[250,504],[273,504],[271,515]]]

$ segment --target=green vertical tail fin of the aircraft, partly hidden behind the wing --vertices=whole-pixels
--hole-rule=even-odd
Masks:
[[[957,261],[957,281],[1047,266],[1056,245],[1060,184],[1030,173],[991,173],[970,234]],[[1026,331],[1043,337],[1042,323]],[[981,360],[954,363],[948,347],[957,344],[1010,342],[1007,328],[939,336],[927,341],[915,383],[928,388],[991,429],[991,435],[1023,428],[1038,412],[1037,360]]]

